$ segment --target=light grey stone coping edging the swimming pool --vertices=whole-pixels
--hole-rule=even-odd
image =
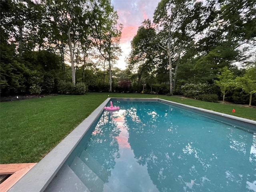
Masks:
[[[66,136],[53,150],[51,150],[40,162],[38,162],[26,175],[24,175],[10,190],[9,192],[27,192],[37,191],[42,192],[50,184],[52,179],[56,176],[61,166],[67,160],[68,156],[78,145],[82,137],[86,134],[90,126],[100,116],[104,110],[104,106],[113,101],[156,101],[165,104],[172,104],[172,106],[179,108],[190,108],[190,110],[203,114],[204,112],[210,113],[212,118],[223,118],[223,120],[235,121],[238,126],[240,124],[248,125],[248,130],[256,132],[256,121],[246,118],[236,117],[220,112],[215,112],[207,109],[202,109],[194,106],[180,104],[160,98],[107,98],[98,108],[96,108],[87,118],[85,118],[68,136]],[[242,122],[241,122],[242,121]],[[246,127],[247,129],[247,127]]]

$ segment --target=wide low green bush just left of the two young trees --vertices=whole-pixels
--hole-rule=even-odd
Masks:
[[[210,94],[211,90],[209,89],[209,85],[206,83],[198,83],[198,84],[188,84],[181,86],[181,91],[184,96],[189,98],[198,98],[199,95],[202,94]]]

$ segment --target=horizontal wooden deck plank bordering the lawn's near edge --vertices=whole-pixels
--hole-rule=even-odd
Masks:
[[[0,175],[14,174],[18,170],[35,164],[36,163],[0,164]]]

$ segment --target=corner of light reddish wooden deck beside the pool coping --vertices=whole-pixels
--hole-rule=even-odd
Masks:
[[[0,184],[0,192],[7,192],[36,163],[0,164],[0,175],[12,174]]]

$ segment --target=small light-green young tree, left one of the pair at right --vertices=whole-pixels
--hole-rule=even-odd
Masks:
[[[234,73],[231,72],[227,66],[225,66],[222,69],[222,73],[221,74],[217,74],[217,77],[219,78],[219,80],[215,80],[215,83],[217,86],[220,87],[220,90],[223,94],[223,100],[222,102],[224,102],[225,100],[225,94],[227,94],[234,86]]]

